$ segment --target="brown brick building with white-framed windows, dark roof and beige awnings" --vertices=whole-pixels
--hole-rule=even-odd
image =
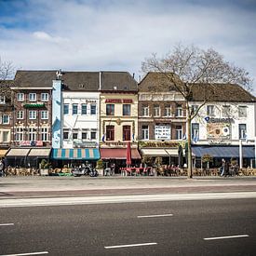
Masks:
[[[18,71],[13,94],[11,149],[8,165],[37,166],[51,147],[51,91],[55,72]],[[36,150],[37,149],[37,150]],[[44,150],[42,150],[44,149]],[[41,153],[38,154],[41,150]],[[35,159],[34,159],[35,158]]]

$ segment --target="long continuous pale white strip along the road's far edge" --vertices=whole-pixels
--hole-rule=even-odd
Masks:
[[[182,200],[214,200],[214,199],[256,198],[256,192],[228,193],[193,193],[193,194],[156,194],[156,195],[97,195],[48,198],[1,199],[0,208],[67,206],[90,204],[117,204],[139,202],[165,202]]]

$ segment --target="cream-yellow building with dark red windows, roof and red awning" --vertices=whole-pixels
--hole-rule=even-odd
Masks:
[[[126,167],[128,142],[132,165],[141,156],[138,148],[138,85],[127,72],[101,72],[101,158],[115,172]]]

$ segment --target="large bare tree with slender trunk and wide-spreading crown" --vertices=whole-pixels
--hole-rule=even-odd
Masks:
[[[169,85],[179,91],[185,101],[187,142],[188,142],[188,178],[192,178],[191,122],[200,109],[209,101],[216,100],[217,84],[238,84],[251,90],[252,80],[243,68],[224,61],[221,54],[212,48],[207,50],[194,46],[177,45],[163,58],[152,54],[141,63],[143,73],[163,74]],[[194,99],[195,87],[201,85],[200,96],[203,99],[195,111],[189,102]],[[166,85],[165,85],[166,86]]]

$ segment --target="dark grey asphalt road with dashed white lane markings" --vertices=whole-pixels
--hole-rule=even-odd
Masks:
[[[0,255],[255,255],[256,251],[253,198],[7,208],[0,209],[0,216]]]

